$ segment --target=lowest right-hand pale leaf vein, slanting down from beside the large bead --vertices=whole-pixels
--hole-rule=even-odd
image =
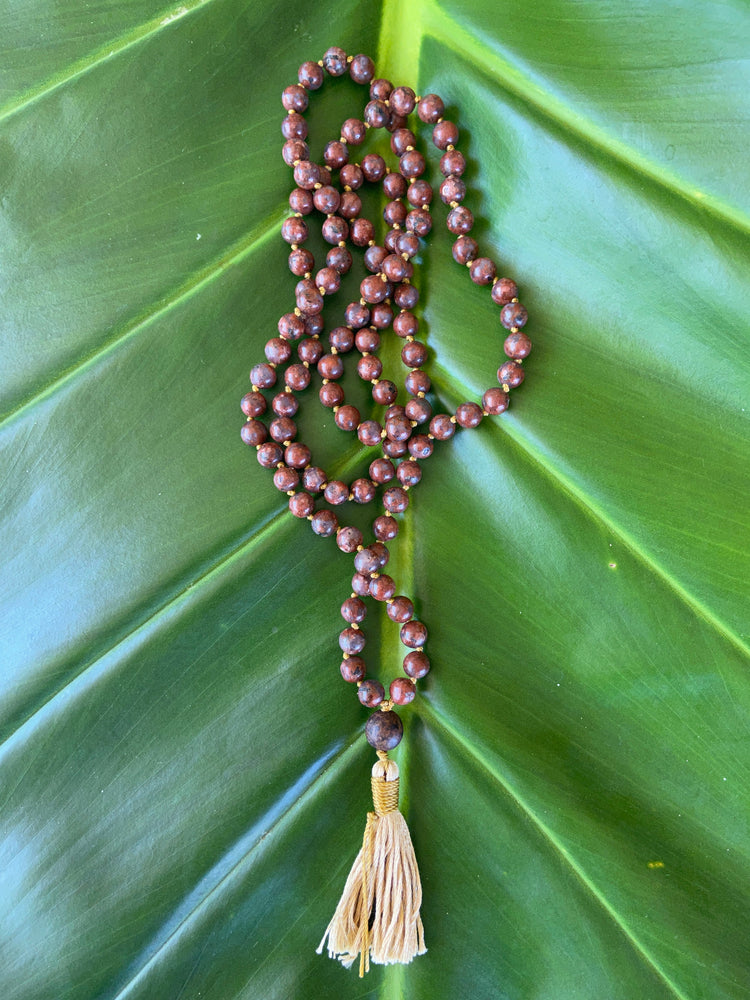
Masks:
[[[677,998],[677,1000],[690,1000],[685,993],[683,993],[676,983],[672,981],[669,975],[661,967],[656,958],[651,954],[649,949],[638,939],[633,930],[628,926],[627,923],[618,915],[614,907],[609,903],[606,896],[598,889],[596,884],[588,877],[584,869],[578,864],[575,858],[569,853],[568,850],[560,843],[559,839],[555,835],[555,832],[544,822],[544,820],[536,814],[531,805],[524,799],[523,795],[513,787],[513,785],[503,777],[502,774],[492,764],[482,755],[481,751],[471,742],[469,742],[454,726],[452,726],[441,714],[438,712],[433,705],[431,705],[426,700],[421,702],[421,710],[423,713],[429,715],[432,722],[437,724],[448,736],[452,737],[455,743],[457,743],[461,749],[467,753],[471,759],[486,773],[489,777],[495,781],[500,788],[503,790],[505,795],[513,802],[513,804],[523,813],[524,816],[529,820],[529,822],[539,831],[544,840],[550,845],[552,850],[565,862],[565,864],[570,868],[570,870],[579,879],[584,888],[591,894],[591,896],[596,900],[600,907],[604,910],[605,914],[612,920],[615,926],[621,931],[623,936],[633,947],[636,954],[646,962],[646,964],[653,969],[659,979],[664,983],[667,989]]]

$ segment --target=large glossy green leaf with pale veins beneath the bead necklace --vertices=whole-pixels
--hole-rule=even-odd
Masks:
[[[747,6],[5,0],[0,29],[3,1000],[750,996]],[[445,97],[535,345],[394,545],[433,662],[395,754],[429,952],[362,983],[314,953],[368,808],[351,563],[238,437],[292,297],[279,94],[333,43]],[[328,91],[313,143],[361,109]],[[451,406],[501,341],[436,216]]]

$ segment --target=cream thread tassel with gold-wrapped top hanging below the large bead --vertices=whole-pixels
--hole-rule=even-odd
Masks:
[[[362,850],[317,949],[320,954],[327,938],[329,956],[347,969],[359,955],[360,978],[371,960],[406,964],[427,951],[419,915],[422,883],[409,828],[398,811],[398,765],[384,751],[378,757],[371,779],[375,812],[367,814]]]

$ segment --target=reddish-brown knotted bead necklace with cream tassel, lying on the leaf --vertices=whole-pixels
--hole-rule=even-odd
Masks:
[[[305,142],[307,123],[303,117],[311,91],[325,78],[348,72],[355,83],[369,86],[370,100],[363,119],[347,118],[337,137],[325,147],[323,164],[310,159]],[[252,392],[242,399],[247,422],[242,440],[257,451],[258,462],[273,470],[277,489],[289,497],[295,517],[308,520],[316,535],[334,537],[342,552],[354,556],[351,595],[341,605],[346,627],[339,634],[343,659],[341,675],[355,684],[360,702],[376,709],[365,726],[367,741],[378,760],[372,769],[374,812],[368,813],[362,849],[344,887],[343,895],[320,943],[326,940],[328,953],[350,966],[359,956],[360,976],[370,961],[387,964],[410,962],[424,953],[424,931],[419,909],[422,888],[409,830],[398,811],[398,767],[388,752],[401,741],[403,727],[395,706],[414,700],[417,681],[430,669],[424,651],[425,625],[414,617],[411,599],[397,593],[394,579],[383,570],[389,559],[387,543],[398,534],[397,515],[409,505],[409,491],[422,478],[420,462],[432,454],[435,442],[447,441],[457,428],[477,427],[483,417],[503,413],[509,392],[523,381],[523,359],[531,342],[522,327],[526,310],[518,302],[518,289],[509,278],[499,278],[489,257],[479,256],[479,247],[469,235],[473,216],[461,202],[466,185],[461,179],[466,161],[456,149],[458,128],[443,118],[445,110],[436,94],[417,97],[410,87],[396,87],[388,80],[375,79],[375,66],[368,56],[347,56],[333,46],[319,62],[305,62],[299,68],[299,83],[287,87],[282,103],[287,116],[281,131],[286,140],[284,162],[294,169],[295,187],[289,196],[292,215],[281,227],[283,239],[291,247],[289,269],[299,280],[295,288],[296,306],[279,320],[277,337],[265,347],[266,360],[250,372]],[[417,339],[419,321],[414,308],[419,293],[411,279],[414,258],[432,228],[430,203],[433,189],[422,179],[426,164],[416,148],[416,137],[407,126],[409,115],[432,126],[432,141],[442,151],[440,198],[449,207],[447,226],[457,237],[453,257],[468,267],[471,280],[490,287],[493,302],[500,306],[500,323],[508,331],[504,343],[508,358],[497,372],[499,385],[487,389],[481,403],[465,402],[455,413],[433,415],[427,399],[430,379],[422,366],[427,348]],[[360,146],[368,130],[386,129],[398,167],[391,170],[382,156],[368,153],[354,162],[353,150]],[[334,183],[337,175],[338,184]],[[357,194],[365,183],[380,184],[386,199],[383,218],[387,232],[383,245],[376,242],[373,223],[361,214]],[[331,249],[325,267],[315,272],[315,260],[304,248],[309,235],[305,218],[323,216],[321,232]],[[360,297],[344,309],[344,323],[324,334],[323,307],[338,290],[341,278],[353,260],[347,244],[363,251],[369,275],[360,284]],[[382,378],[378,357],[381,335],[392,329],[403,340],[401,359],[407,368],[405,405],[397,404],[398,388]],[[327,340],[327,350],[323,337]],[[296,353],[296,358],[294,354]],[[362,420],[355,406],[345,401],[340,379],[344,356],[358,355],[359,377],[369,383],[373,401],[385,407],[382,420]],[[336,426],[357,435],[366,447],[378,447],[380,457],[369,466],[369,475],[352,483],[330,479],[313,464],[307,445],[295,440],[294,416],[303,393],[317,372],[321,382],[320,402],[333,411]],[[281,383],[283,382],[283,386]],[[277,389],[280,388],[280,391]],[[268,411],[269,423],[261,418]],[[320,497],[327,504],[320,503]],[[369,504],[380,496],[383,513],[372,522],[372,539],[365,539],[356,527],[341,523],[332,507],[353,501]],[[365,542],[367,543],[365,544]],[[385,604],[386,614],[400,626],[401,642],[407,648],[404,676],[389,687],[388,697],[380,681],[366,677],[362,630],[368,601]]]

